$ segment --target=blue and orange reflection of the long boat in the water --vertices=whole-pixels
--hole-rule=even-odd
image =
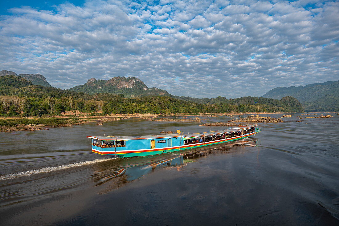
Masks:
[[[167,155],[164,156],[163,159],[158,160],[151,160],[147,163],[139,163],[139,164],[132,164],[126,167],[119,167],[117,169],[107,169],[103,167],[103,171],[111,171],[113,170],[114,173],[109,173],[109,175],[101,178],[99,183],[104,183],[108,180],[117,177],[123,177],[125,181],[132,181],[142,176],[152,172],[157,168],[162,167],[171,167],[171,166],[184,166],[190,162],[194,162],[195,159],[207,157],[208,155],[213,155],[216,153],[230,153],[232,152],[232,146],[241,146],[241,147],[256,147],[258,139],[257,138],[246,138],[236,142],[230,142],[229,144],[225,144],[223,146],[219,146],[213,149],[205,149],[205,148],[198,148],[198,150],[184,150],[182,152],[177,152],[178,155]],[[145,157],[147,158],[147,157]],[[153,157],[152,157],[153,158]],[[128,162],[126,162],[128,164]],[[111,171],[112,172],[112,171]]]

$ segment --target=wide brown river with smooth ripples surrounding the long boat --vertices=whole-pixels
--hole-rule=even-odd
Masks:
[[[242,141],[120,159],[91,152],[86,136],[220,130],[199,125],[230,118],[0,133],[0,225],[339,225],[339,116],[300,117]]]

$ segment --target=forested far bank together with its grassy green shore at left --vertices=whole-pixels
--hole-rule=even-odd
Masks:
[[[255,104],[259,102],[259,108]],[[18,130],[43,129],[41,126],[69,126],[95,120],[118,120],[136,114],[213,115],[239,112],[303,112],[293,97],[281,100],[241,97],[223,103],[201,104],[168,96],[125,98],[114,94],[85,94],[82,92],[33,85],[20,76],[0,77],[0,127]],[[72,112],[72,113],[71,113]],[[76,112],[76,113],[75,113]],[[79,115],[82,115],[81,117]],[[113,116],[112,116],[113,115]],[[2,118],[1,117],[19,117]],[[32,118],[37,117],[37,118]],[[73,118],[72,118],[73,117]],[[90,118],[84,119],[84,118]],[[93,117],[100,117],[94,119]],[[105,117],[111,117],[104,119]]]

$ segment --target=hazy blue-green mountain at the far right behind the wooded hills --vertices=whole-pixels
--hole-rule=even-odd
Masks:
[[[339,80],[298,87],[277,87],[263,95],[274,99],[284,96],[298,99],[306,111],[339,111]]]

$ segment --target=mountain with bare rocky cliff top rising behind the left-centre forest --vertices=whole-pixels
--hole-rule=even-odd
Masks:
[[[75,86],[69,90],[87,94],[123,94],[125,97],[171,96],[166,90],[149,88],[140,79],[134,77],[114,77],[109,80],[91,78],[86,84]]]

